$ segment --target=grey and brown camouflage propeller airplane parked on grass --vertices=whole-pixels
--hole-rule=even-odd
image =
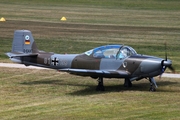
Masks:
[[[6,55],[16,63],[39,66],[79,76],[98,79],[97,91],[104,91],[103,78],[124,78],[124,86],[133,81],[147,79],[149,91],[156,91],[155,76],[161,76],[166,68],[174,71],[172,61],[138,54],[132,47],[104,45],[81,54],[56,54],[38,50],[31,31],[15,30],[11,52]]]

